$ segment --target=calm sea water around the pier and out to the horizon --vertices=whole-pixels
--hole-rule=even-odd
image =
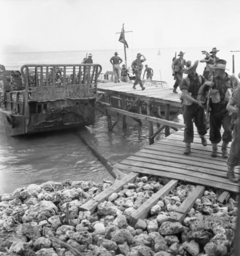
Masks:
[[[146,64],[154,70],[154,79],[173,85],[171,63],[175,51],[184,51],[186,60],[202,59],[201,50],[210,51],[212,47],[188,49],[127,49],[127,65],[135,59],[138,52],[146,57]],[[160,55],[158,51],[160,50]],[[232,54],[235,55],[235,73],[240,69],[240,52],[231,53],[231,48],[220,48],[218,55],[227,60],[227,68],[232,73]],[[94,63],[102,65],[102,72],[112,69],[110,57],[116,50],[89,51]],[[124,59],[124,51],[117,50]],[[20,70],[24,64],[77,64],[86,56],[85,51],[10,53],[0,58],[0,63],[8,70]],[[202,73],[204,64],[199,63],[197,72]],[[97,150],[111,163],[123,160],[148,145],[148,126],[139,126],[132,119],[127,119],[128,127],[122,129],[122,123],[113,131],[107,128],[106,117],[96,112],[96,122],[88,126],[87,140],[93,140]],[[81,130],[79,130],[81,132]],[[164,137],[159,134],[156,140]],[[35,134],[31,136],[7,137],[0,134],[0,195],[11,193],[14,189],[31,183],[45,181],[92,180],[101,182],[112,179],[105,167],[90,151],[78,133],[73,130]]]

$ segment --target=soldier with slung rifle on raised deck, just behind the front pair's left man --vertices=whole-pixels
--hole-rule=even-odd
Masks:
[[[174,80],[176,79],[174,85],[173,85],[173,92],[174,93],[178,93],[177,92],[177,88],[181,83],[182,80],[182,74],[184,72],[184,65],[186,64],[185,59],[183,59],[183,55],[185,53],[183,53],[182,51],[180,51],[180,53],[178,54],[179,58],[175,59],[172,62],[172,75],[174,76]]]

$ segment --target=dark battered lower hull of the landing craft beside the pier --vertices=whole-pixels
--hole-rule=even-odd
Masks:
[[[12,115],[10,111],[0,109],[0,132],[7,136],[16,136],[64,130],[93,124],[94,119],[93,106],[83,104],[57,109],[51,113],[30,114],[29,120],[25,116]]]

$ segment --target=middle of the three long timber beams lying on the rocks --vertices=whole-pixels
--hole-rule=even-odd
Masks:
[[[162,187],[157,193],[152,195],[146,202],[144,202],[134,213],[130,216],[130,225],[135,226],[138,219],[146,219],[149,215],[151,208],[156,205],[159,198],[168,195],[169,191],[172,190],[178,184],[177,180],[172,179],[164,187]]]

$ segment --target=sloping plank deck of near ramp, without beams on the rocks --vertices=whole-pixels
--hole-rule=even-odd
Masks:
[[[204,147],[195,132],[191,154],[184,155],[183,135],[184,129],[181,129],[136,152],[120,163],[116,163],[114,168],[125,172],[130,171],[188,181],[238,193],[239,184],[230,182],[226,177],[226,158],[222,158],[221,144],[218,144],[218,156],[213,158],[210,156],[212,146],[209,136],[206,135],[208,145]],[[239,167],[236,168],[235,173],[237,177],[240,176]]]

